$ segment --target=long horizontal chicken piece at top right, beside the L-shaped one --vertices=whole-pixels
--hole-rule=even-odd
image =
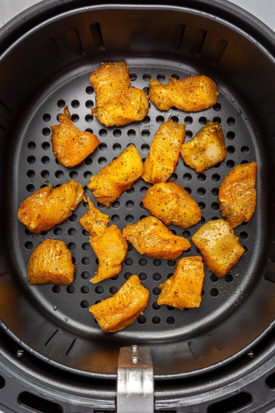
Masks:
[[[207,76],[191,76],[177,80],[170,77],[167,85],[151,79],[149,98],[157,109],[176,107],[186,112],[198,112],[213,106],[218,97],[216,84]]]

